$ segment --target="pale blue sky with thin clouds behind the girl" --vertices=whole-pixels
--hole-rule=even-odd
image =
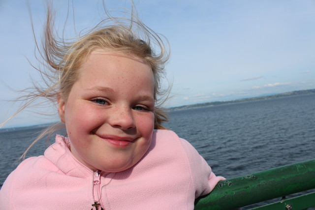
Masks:
[[[52,2],[58,29],[69,8],[68,38],[106,18],[101,0]],[[170,43],[166,80],[172,90],[166,107],[315,89],[315,0],[134,4],[139,18]],[[105,0],[105,5],[130,8],[130,1]],[[0,123],[21,105],[10,100],[40,78],[30,64],[38,64],[31,23],[40,42],[45,12],[44,0],[0,0]],[[32,106],[3,127],[57,121],[56,113],[54,105]]]

